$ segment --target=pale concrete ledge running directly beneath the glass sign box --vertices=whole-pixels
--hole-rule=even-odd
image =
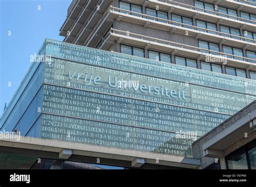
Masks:
[[[164,155],[156,153],[147,153],[137,150],[125,150],[111,147],[94,146],[90,144],[65,142],[57,140],[47,140],[44,138],[35,138],[21,136],[21,140],[0,139],[0,146],[9,148],[23,148],[30,150],[41,150],[60,153],[69,153],[66,155],[82,155],[99,158],[110,158],[112,160],[134,161],[136,158],[142,158],[145,163],[168,165],[172,167],[196,169],[200,166],[200,160],[176,155]],[[67,151],[70,150],[70,151]],[[65,157],[60,157],[65,158]]]

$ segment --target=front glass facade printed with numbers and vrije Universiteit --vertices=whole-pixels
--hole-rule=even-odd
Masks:
[[[46,40],[42,137],[191,157],[256,81]]]

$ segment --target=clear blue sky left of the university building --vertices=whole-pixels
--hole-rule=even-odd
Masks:
[[[0,115],[30,67],[30,55],[38,52],[45,38],[63,40],[59,29],[70,3],[71,0],[0,0]]]

